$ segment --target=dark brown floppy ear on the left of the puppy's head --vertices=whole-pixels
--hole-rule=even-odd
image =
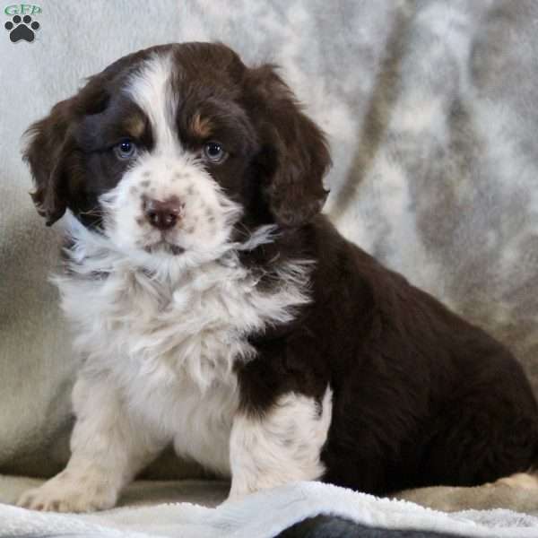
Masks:
[[[30,164],[35,190],[30,194],[47,225],[54,224],[67,207],[65,161],[71,150],[69,129],[74,117],[74,98],[52,108],[50,115],[26,131],[24,161]]]

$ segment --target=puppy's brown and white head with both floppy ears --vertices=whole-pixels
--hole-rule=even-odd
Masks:
[[[121,58],[30,127],[24,156],[49,225],[69,208],[150,256],[218,256],[256,226],[307,223],[330,163],[273,66],[209,43]]]

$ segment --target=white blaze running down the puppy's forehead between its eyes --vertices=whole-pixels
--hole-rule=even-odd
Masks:
[[[126,92],[150,120],[157,153],[180,150],[174,127],[178,99],[172,91],[172,73],[171,54],[154,54],[130,77],[126,87]]]

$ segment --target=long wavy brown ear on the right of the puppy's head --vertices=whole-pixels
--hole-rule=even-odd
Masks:
[[[301,226],[319,213],[331,157],[325,135],[303,114],[273,65],[247,73],[248,108],[257,124],[265,175],[265,200],[282,226]]]

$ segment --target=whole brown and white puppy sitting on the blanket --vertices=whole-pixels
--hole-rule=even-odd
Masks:
[[[522,369],[320,215],[324,135],[230,48],[126,56],[30,128],[39,213],[84,362],[64,472],[19,504],[110,508],[163,447],[230,498],[324,480],[386,494],[531,469]]]

